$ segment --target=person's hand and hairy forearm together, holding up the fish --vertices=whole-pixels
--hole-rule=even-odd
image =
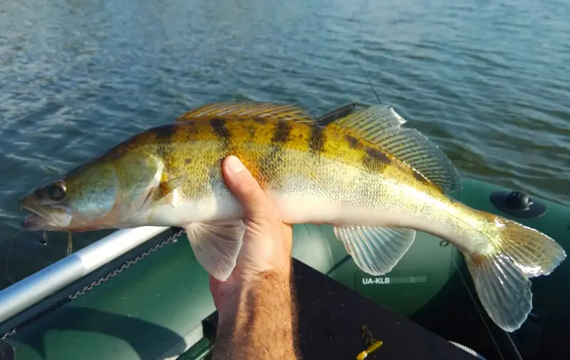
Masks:
[[[239,159],[222,164],[224,179],[244,209],[236,266],[220,282],[210,277],[218,309],[214,360],[296,360],[296,302],[291,287],[293,227]]]

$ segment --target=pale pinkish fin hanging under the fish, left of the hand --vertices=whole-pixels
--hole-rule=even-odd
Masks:
[[[192,222],[185,226],[198,262],[220,281],[226,281],[236,265],[245,225],[242,220]]]

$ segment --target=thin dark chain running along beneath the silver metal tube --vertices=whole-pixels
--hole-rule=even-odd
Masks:
[[[162,242],[159,242],[157,245],[150,247],[150,249],[146,250],[145,252],[142,252],[142,254],[134,257],[133,259],[130,259],[130,260],[123,262],[123,264],[121,264],[118,267],[115,267],[115,269],[111,270],[107,274],[103,275],[102,277],[99,277],[94,282],[86,285],[85,287],[83,287],[83,289],[81,289],[77,292],[74,292],[73,294],[69,295],[68,297],[64,297],[63,299],[60,299],[58,302],[51,305],[51,307],[48,307],[47,309],[44,309],[41,312],[38,312],[38,314],[33,315],[32,317],[29,317],[28,319],[25,319],[23,322],[14,326],[9,331],[6,331],[4,333],[4,335],[2,335],[0,340],[4,340],[4,339],[8,338],[9,336],[16,334],[16,332],[21,331],[21,329],[24,329],[26,326],[29,326],[30,324],[37,322],[38,320],[42,319],[43,317],[46,317],[46,315],[51,314],[51,312],[54,312],[56,309],[59,309],[64,304],[71,302],[71,300],[77,299],[78,297],[81,297],[81,295],[85,294],[86,292],[95,289],[95,287],[98,287],[100,284],[103,284],[103,282],[106,282],[111,277],[117,276],[118,274],[123,272],[125,269],[128,269],[129,267],[131,267],[133,264],[136,264],[137,262],[140,262],[140,260],[145,259],[145,257],[152,254],[152,252],[155,252],[156,250],[159,250],[161,247],[163,247],[163,246],[167,245],[168,243],[176,240],[176,238],[179,237],[180,235],[182,235],[182,233],[184,233],[184,230],[180,230],[180,231],[176,232],[174,235],[168,237],[165,240],[162,240]]]

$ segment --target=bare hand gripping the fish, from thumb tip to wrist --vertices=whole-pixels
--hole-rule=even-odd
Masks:
[[[263,282],[289,282],[293,229],[281,221],[279,209],[259,186],[252,173],[235,156],[222,162],[229,190],[245,212],[245,232],[234,271],[225,282],[209,277],[219,316],[235,312],[244,292]]]

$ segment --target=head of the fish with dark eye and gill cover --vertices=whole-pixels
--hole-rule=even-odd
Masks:
[[[21,198],[26,230],[82,232],[144,225],[160,171],[141,155],[96,158]]]

